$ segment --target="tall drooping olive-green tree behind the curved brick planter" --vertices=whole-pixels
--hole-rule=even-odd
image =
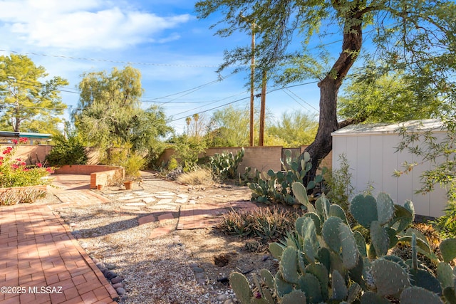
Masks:
[[[113,147],[130,142],[142,110],[140,71],[130,66],[110,74],[84,73],[73,121],[88,145]]]

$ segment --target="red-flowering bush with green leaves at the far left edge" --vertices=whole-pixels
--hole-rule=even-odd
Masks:
[[[13,158],[18,145],[28,141],[21,137],[11,140],[13,145],[6,147],[0,154],[0,188],[46,185],[51,182],[46,177],[53,173],[52,167],[43,167],[41,162],[27,165],[19,158]]]

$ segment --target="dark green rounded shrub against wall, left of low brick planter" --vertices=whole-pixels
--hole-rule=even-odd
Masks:
[[[46,156],[46,161],[52,166],[63,166],[64,164],[87,164],[87,154],[80,138],[77,135],[69,134],[68,138],[63,135],[53,137],[56,145]]]

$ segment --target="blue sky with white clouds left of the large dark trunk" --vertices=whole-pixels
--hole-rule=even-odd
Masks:
[[[216,70],[224,50],[249,46],[251,37],[214,36],[209,27],[219,16],[199,20],[194,5],[188,0],[0,0],[0,55],[26,55],[49,77],[66,78],[70,84],[60,89],[67,120],[78,105],[83,73],[109,73],[130,64],[142,74],[143,108],[160,105],[182,133],[188,116],[199,113],[208,120],[224,105],[249,108],[250,103],[248,71],[233,75],[228,69],[219,80]],[[282,112],[318,112],[316,83],[269,90],[266,108],[276,119]]]

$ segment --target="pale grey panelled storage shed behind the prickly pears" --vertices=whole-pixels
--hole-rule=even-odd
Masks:
[[[408,151],[396,152],[402,140],[398,129],[402,126],[410,132],[432,131],[437,140],[445,138],[442,122],[438,120],[413,120],[393,125],[350,125],[333,132],[333,169],[341,166],[340,155],[345,154],[351,168],[351,185],[354,194],[373,186],[373,195],[386,192],[396,204],[413,201],[415,213],[423,216],[442,216],[447,205],[445,189],[435,185],[428,194],[415,194],[420,189],[420,175],[431,169],[430,162],[423,162]],[[394,177],[396,169],[403,169],[403,162],[417,162],[408,174]]]

